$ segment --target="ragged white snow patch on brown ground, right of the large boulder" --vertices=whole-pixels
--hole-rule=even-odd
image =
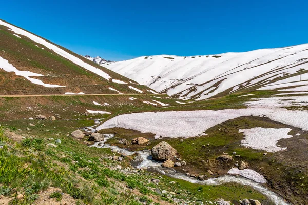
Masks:
[[[242,146],[267,152],[285,150],[286,148],[277,147],[277,142],[280,139],[293,137],[292,135],[287,135],[290,131],[290,128],[251,128],[239,130],[239,132],[245,135],[245,138],[241,141]]]

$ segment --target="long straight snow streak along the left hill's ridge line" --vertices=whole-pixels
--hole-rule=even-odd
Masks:
[[[17,28],[13,25],[10,25],[8,23],[5,23],[3,22],[2,20],[0,20],[0,25],[3,25],[3,26],[6,26],[8,28],[10,28],[13,32],[15,32],[16,34],[19,34],[19,35],[23,35],[23,36],[26,36],[28,38],[30,38],[31,40],[33,40],[34,42],[36,43],[39,43],[39,44],[42,44],[44,46],[46,46],[47,48],[53,50],[54,52],[56,52],[57,54],[61,55],[62,57],[65,57],[66,59],[72,61],[74,64],[77,64],[83,68],[85,68],[86,70],[89,70],[107,80],[109,80],[111,77],[105,73],[104,71],[98,69],[98,68],[95,68],[94,66],[91,66],[87,63],[85,63],[84,61],[82,61],[81,59],[69,54],[68,52],[62,50],[61,48],[47,42],[46,40],[36,36],[36,35],[33,35],[25,30],[22,30],[20,28]]]

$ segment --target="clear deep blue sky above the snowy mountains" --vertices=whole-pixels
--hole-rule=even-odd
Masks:
[[[308,1],[3,1],[0,18],[76,53],[125,60],[308,43]]]

